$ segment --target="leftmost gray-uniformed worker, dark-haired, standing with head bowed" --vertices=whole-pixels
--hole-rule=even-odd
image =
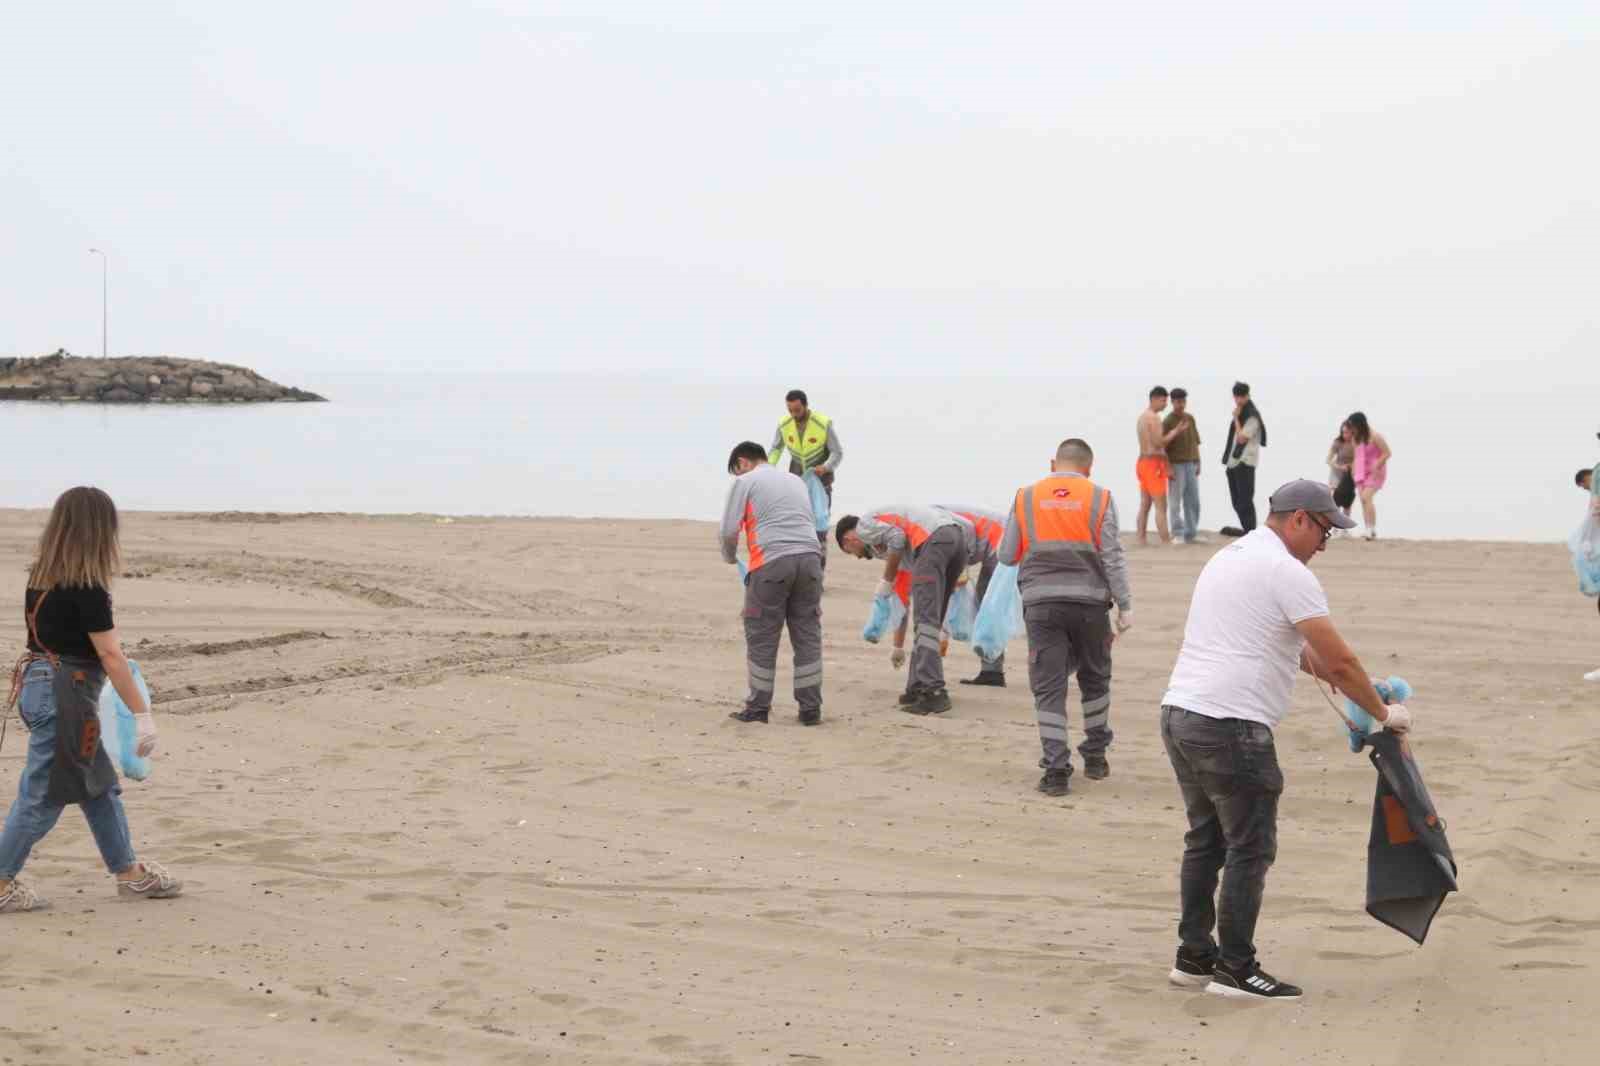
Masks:
[[[768,463],[766,448],[746,440],[728,456],[734,475],[717,539],[723,562],[750,554],[744,575],[744,648],[750,691],[731,719],[766,722],[778,680],[784,624],[795,653],[800,723],[822,720],[822,549],[816,543],[811,495],[798,477]]]

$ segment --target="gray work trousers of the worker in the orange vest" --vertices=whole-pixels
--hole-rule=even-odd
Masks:
[[[1078,675],[1083,696],[1083,757],[1110,746],[1110,608],[1106,603],[1051,600],[1022,608],[1027,623],[1027,683],[1034,690],[1038,765],[1072,771],[1067,746],[1067,677]]]

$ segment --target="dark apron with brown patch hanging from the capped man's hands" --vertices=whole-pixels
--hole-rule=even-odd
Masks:
[[[1389,731],[1365,741],[1378,768],[1366,842],[1366,912],[1421,944],[1445,896],[1456,892],[1456,858],[1411,746]]]

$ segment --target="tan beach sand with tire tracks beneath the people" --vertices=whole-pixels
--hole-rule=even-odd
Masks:
[[[42,520],[0,512],[3,602]],[[117,903],[67,812],[27,869],[54,908],[0,919],[8,1063],[1592,1053],[1600,621],[1557,544],[1317,560],[1366,666],[1416,687],[1462,892],[1426,948],[1363,914],[1373,770],[1302,679],[1258,933],[1294,1005],[1165,981],[1184,824],[1157,703],[1214,546],[1131,551],[1114,773],[1066,799],[1034,792],[1021,643],[1011,688],[899,714],[858,639],[877,567],[837,552],[806,730],[787,698],[726,719],[739,587],[706,525],[130,514],[125,547],[162,728],[126,805],[189,895]],[[13,722],[6,797],[21,754]]]

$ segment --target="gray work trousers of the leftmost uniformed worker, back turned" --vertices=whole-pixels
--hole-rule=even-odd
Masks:
[[[795,653],[795,703],[822,709],[822,557],[784,555],[744,579],[744,656],[750,672],[747,711],[771,711],[778,642],[789,624]]]

